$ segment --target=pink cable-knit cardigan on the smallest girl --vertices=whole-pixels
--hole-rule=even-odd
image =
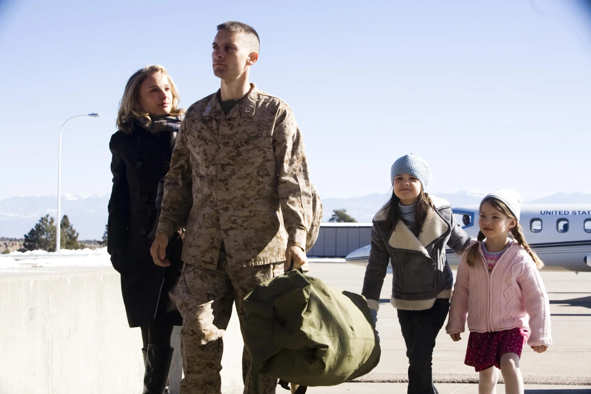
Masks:
[[[530,331],[528,345],[550,346],[550,303],[529,253],[512,241],[489,274],[482,249],[478,250],[474,267],[467,265],[464,255],[457,268],[446,332],[463,333],[467,315],[470,331],[519,327]]]

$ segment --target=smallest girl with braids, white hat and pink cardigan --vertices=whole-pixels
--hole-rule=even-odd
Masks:
[[[550,304],[538,272],[544,264],[525,242],[520,211],[517,191],[488,194],[480,203],[478,241],[462,252],[457,269],[446,332],[459,341],[467,317],[465,363],[480,373],[479,394],[495,393],[499,369],[505,392],[523,393],[525,342],[538,353],[552,344]]]

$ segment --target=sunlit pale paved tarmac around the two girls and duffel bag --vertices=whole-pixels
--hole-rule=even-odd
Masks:
[[[311,263],[310,275],[327,284],[352,292],[361,292],[365,268],[347,263]],[[453,268],[453,267],[452,267]],[[454,272],[455,275],[455,272]],[[591,394],[591,272],[542,271],[542,278],[550,297],[553,346],[538,354],[524,349],[521,371],[527,394]],[[332,388],[309,388],[309,393],[406,393],[404,379],[408,361],[400,333],[396,310],[390,298],[392,275],[384,280],[380,298],[384,300],[378,313],[378,331],[382,357],[379,365],[363,377],[369,382],[346,383]],[[478,392],[478,374],[464,361],[467,332],[462,340],[453,342],[441,330],[433,355],[433,372],[441,394]],[[373,382],[372,382],[373,381]],[[374,383],[379,382],[379,383]],[[534,383],[543,383],[536,385]],[[278,393],[282,390],[278,389]],[[497,393],[504,393],[499,385]],[[288,392],[285,391],[287,394]]]

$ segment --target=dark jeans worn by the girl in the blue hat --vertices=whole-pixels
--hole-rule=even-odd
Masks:
[[[407,346],[408,394],[439,394],[433,384],[431,361],[435,338],[449,312],[449,299],[436,299],[424,311],[398,310],[398,321]]]

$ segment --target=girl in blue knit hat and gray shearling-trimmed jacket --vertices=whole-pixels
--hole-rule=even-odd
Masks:
[[[471,238],[442,198],[424,193],[431,171],[424,159],[405,155],[394,162],[392,198],[376,213],[362,294],[377,321],[379,294],[392,264],[391,304],[407,347],[408,393],[437,393],[431,376],[435,338],[449,311],[453,275],[446,245],[460,252]]]

